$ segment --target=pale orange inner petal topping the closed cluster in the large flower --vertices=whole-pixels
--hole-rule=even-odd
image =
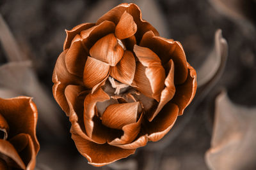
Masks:
[[[100,38],[90,49],[90,55],[98,60],[116,66],[124,54],[124,49],[119,45],[114,34]]]

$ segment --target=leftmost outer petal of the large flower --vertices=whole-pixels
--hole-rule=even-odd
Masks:
[[[81,78],[78,78],[68,72],[65,64],[66,53],[67,50],[62,52],[56,61],[56,65],[52,73],[52,82],[54,83],[52,87],[52,94],[61,109],[65,111],[66,115],[69,115],[68,103],[64,93],[65,88],[69,84],[78,85],[83,84],[83,82],[81,81]]]

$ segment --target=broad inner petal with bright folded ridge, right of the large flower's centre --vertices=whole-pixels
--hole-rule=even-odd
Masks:
[[[157,57],[156,53],[152,52],[150,49],[141,47],[138,45],[134,45],[134,52],[136,57],[140,60],[141,64],[145,67],[145,76],[147,76],[148,81],[150,82],[150,88],[152,90],[152,96],[156,101],[159,101],[160,93],[164,89],[164,79],[165,79],[165,71],[163,66],[161,65],[161,60]],[[138,66],[138,73],[136,70],[134,76],[134,82],[138,89],[143,93],[145,86],[142,81],[143,69],[140,69],[141,66]],[[136,68],[137,69],[137,68]],[[141,77],[141,78],[140,78]],[[148,85],[147,85],[148,86]],[[148,96],[148,92],[145,93],[145,96]],[[150,97],[148,96],[148,97]]]

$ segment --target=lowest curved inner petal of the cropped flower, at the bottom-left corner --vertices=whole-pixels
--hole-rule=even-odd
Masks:
[[[19,153],[15,150],[9,141],[0,139],[0,153],[5,157],[1,157],[5,160],[8,167],[17,167],[20,169],[26,169],[22,159],[20,159]]]

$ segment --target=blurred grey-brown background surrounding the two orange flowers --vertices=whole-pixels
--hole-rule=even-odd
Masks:
[[[152,149],[162,144],[150,143],[127,159],[93,167],[77,152],[68,117],[52,97],[52,71],[65,29],[95,22],[124,2],[138,4],[160,36],[180,41],[189,64],[202,72],[198,74],[212,69],[214,74],[198,80],[195,100],[163,138],[163,148]],[[41,146],[36,169],[256,169],[255,11],[253,0],[0,0],[0,97],[34,96]],[[228,48],[218,43],[218,29]],[[231,145],[231,134],[249,137]]]

